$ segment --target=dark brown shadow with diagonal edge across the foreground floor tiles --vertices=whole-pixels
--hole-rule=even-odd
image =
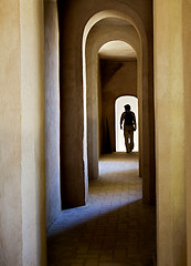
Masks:
[[[60,226],[47,241],[49,265],[155,265],[155,216],[139,200],[73,228]]]

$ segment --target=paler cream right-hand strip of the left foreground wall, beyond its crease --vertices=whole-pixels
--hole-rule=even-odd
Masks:
[[[45,265],[44,6],[20,2],[22,264]]]

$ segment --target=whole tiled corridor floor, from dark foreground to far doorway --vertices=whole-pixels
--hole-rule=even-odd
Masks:
[[[86,206],[62,212],[49,232],[49,266],[156,265],[156,214],[142,205],[136,153],[102,157]]]

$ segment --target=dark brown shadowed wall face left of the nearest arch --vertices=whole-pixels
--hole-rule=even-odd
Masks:
[[[78,19],[84,11],[70,10],[71,1],[60,1],[61,33],[61,195],[62,208],[85,204],[85,174],[83,161],[83,90],[81,32]],[[81,14],[81,16],[79,16]],[[67,24],[67,27],[65,27]],[[78,31],[79,30],[79,31]],[[77,43],[78,44],[77,44]],[[77,47],[77,49],[75,49]],[[78,51],[79,49],[79,51]],[[76,51],[78,51],[76,53]]]

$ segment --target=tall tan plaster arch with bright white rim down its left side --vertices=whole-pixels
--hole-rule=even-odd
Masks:
[[[105,32],[105,34],[99,34],[97,39],[95,38],[95,27],[100,25],[100,23],[104,23],[104,21],[107,21],[109,23],[109,20],[117,20],[118,24],[121,25],[121,23],[126,24],[130,29],[130,34],[123,33],[120,29],[115,31],[114,24],[113,24],[113,31]],[[129,22],[130,21],[130,22]],[[140,21],[139,21],[140,22]],[[138,23],[139,23],[138,22]],[[99,114],[98,114],[98,94],[99,94],[99,72],[98,72],[98,58],[97,58],[97,51],[100,49],[103,44],[105,44],[108,41],[114,40],[120,40],[126,41],[127,43],[130,42],[130,44],[135,48],[137,52],[137,95],[139,99],[139,126],[140,126],[140,133],[139,133],[139,165],[140,165],[140,173],[139,175],[144,177],[144,202],[145,203],[155,203],[155,162],[151,163],[151,161],[155,161],[155,146],[151,144],[153,139],[149,137],[148,135],[153,136],[153,129],[151,127],[151,120],[152,114],[149,113],[149,102],[148,102],[148,95],[149,98],[152,96],[152,94],[148,94],[148,47],[147,47],[147,38],[145,35],[144,29],[140,27],[140,32],[137,32],[137,27],[134,28],[132,24],[135,22],[131,21],[131,19],[128,18],[128,16],[124,16],[116,11],[103,11],[100,13],[95,14],[86,24],[84,34],[83,34],[83,84],[84,84],[84,92],[87,93],[87,99],[84,100],[84,110],[87,108],[87,127],[84,126],[85,135],[87,135],[87,144],[84,142],[84,145],[87,147],[87,160],[88,160],[88,175],[92,176],[92,178],[97,178],[98,176],[98,156],[100,153],[99,149]],[[92,29],[92,30],[91,30]],[[134,32],[132,32],[134,31]],[[140,41],[140,35],[142,34],[142,40]],[[94,35],[92,38],[93,41],[91,41],[91,35]],[[137,34],[137,35],[136,35]],[[132,38],[134,37],[134,38]],[[136,39],[137,37],[137,39]],[[129,38],[129,39],[128,39]],[[135,41],[136,40],[136,41]],[[98,82],[97,82],[98,80]],[[84,95],[85,95],[84,93]],[[94,111],[93,111],[94,110]],[[97,116],[94,116],[94,114],[97,114]],[[86,120],[86,114],[84,112],[84,120]],[[150,120],[150,122],[149,122]],[[92,124],[93,123],[93,124]],[[84,123],[85,124],[85,123]],[[144,125],[144,126],[142,126]],[[94,126],[94,127],[93,127]],[[86,131],[87,129],[87,131]],[[93,130],[94,129],[94,130]],[[89,134],[89,132],[92,132]],[[151,136],[150,135],[150,136]],[[97,141],[95,141],[97,140]],[[97,143],[97,144],[96,144]],[[91,145],[94,144],[94,147],[91,147]],[[151,149],[151,150],[150,150]],[[152,150],[153,149],[153,150]],[[147,167],[142,167],[142,165],[147,165]],[[152,174],[151,174],[152,173]]]

